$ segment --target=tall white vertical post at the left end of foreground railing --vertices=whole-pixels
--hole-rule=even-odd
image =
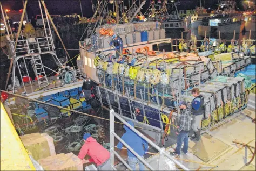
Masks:
[[[113,170],[112,166],[114,166],[114,110],[110,110],[110,170]]]

